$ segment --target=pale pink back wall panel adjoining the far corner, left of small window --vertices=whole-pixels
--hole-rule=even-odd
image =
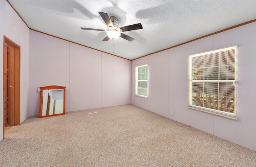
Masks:
[[[130,71],[131,61],[102,53],[101,107],[131,104]]]

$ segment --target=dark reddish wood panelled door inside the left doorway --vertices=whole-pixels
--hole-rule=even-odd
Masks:
[[[10,51],[10,47],[4,45],[4,126],[11,126]]]

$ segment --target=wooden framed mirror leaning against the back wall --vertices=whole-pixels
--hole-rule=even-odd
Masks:
[[[65,114],[66,86],[40,86],[39,118]]]

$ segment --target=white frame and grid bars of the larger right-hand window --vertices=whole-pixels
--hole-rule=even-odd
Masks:
[[[194,57],[198,57],[198,56],[206,56],[206,55],[210,55],[210,54],[213,54],[213,53],[220,53],[222,51],[229,51],[229,50],[232,50],[234,49],[234,79],[228,79],[228,80],[221,80],[220,79],[220,71],[218,72],[218,76],[219,78],[218,79],[215,79],[215,80],[210,80],[210,79],[199,79],[199,80],[193,80],[193,74],[194,74],[194,71],[192,72],[192,58]],[[220,58],[218,59],[218,68],[220,70],[220,67],[222,67],[220,65]],[[203,63],[203,65],[205,65]],[[205,71],[205,69],[210,69],[211,66],[208,66],[207,68],[205,68],[205,66],[203,67]],[[228,67],[228,65],[227,65]],[[222,71],[221,71],[222,72]],[[228,70],[227,70],[228,72]],[[206,75],[206,73],[204,72],[203,73],[204,75]],[[227,74],[228,75],[228,74]],[[203,77],[204,78],[204,77]],[[221,111],[221,110],[215,110],[213,108],[207,108],[207,107],[204,107],[204,106],[197,106],[197,105],[194,105],[192,104],[192,83],[233,83],[234,85],[234,113],[232,112],[228,112],[228,111]],[[209,93],[209,92],[208,92]],[[219,88],[218,88],[218,94],[219,94]],[[226,97],[228,98],[228,95],[230,94],[226,94]],[[204,95],[204,92],[203,92],[203,96],[205,97]],[[209,95],[207,95],[209,96]],[[219,97],[220,95],[218,95]],[[203,97],[203,99],[204,99]],[[204,101],[204,100],[203,100]],[[219,101],[218,101],[218,105],[219,105]],[[188,108],[192,108],[192,109],[195,109],[195,110],[200,110],[200,111],[203,111],[203,112],[208,112],[208,113],[211,113],[211,114],[215,114],[215,115],[219,115],[219,116],[224,116],[224,117],[228,117],[228,118],[232,118],[232,119],[235,119],[237,120],[238,118],[238,45],[234,45],[234,46],[231,46],[231,47],[225,47],[225,48],[222,48],[222,49],[215,49],[215,50],[212,50],[212,51],[206,51],[206,52],[203,52],[203,53],[197,53],[197,54],[193,54],[193,55],[188,55]],[[226,106],[227,108],[227,106]]]

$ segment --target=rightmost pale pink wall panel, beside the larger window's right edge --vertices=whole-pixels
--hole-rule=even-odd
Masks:
[[[214,35],[214,49],[239,45],[238,120],[214,116],[214,135],[256,150],[256,22]]]

